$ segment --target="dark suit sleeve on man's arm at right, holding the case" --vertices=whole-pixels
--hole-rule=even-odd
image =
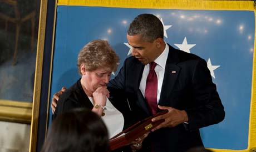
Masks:
[[[192,90],[196,108],[186,109],[189,129],[217,124],[225,117],[216,85],[212,82],[205,60],[199,60],[193,72]]]

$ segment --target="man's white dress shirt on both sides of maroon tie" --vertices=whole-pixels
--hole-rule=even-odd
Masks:
[[[165,72],[165,65],[167,61],[169,53],[169,46],[165,42],[165,49],[164,51],[159,55],[158,58],[154,60],[154,62],[157,64],[155,67],[155,72],[157,76],[157,104],[160,99],[160,94],[161,94],[161,89],[163,85],[163,80],[164,80],[164,72]],[[149,69],[150,69],[150,63],[146,64],[142,73],[142,77],[140,80],[140,91],[142,95],[145,98],[145,89],[146,89],[146,81],[147,81],[147,75],[149,74]]]

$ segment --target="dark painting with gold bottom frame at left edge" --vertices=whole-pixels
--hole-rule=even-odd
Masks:
[[[0,120],[31,123],[40,1],[0,1]]]

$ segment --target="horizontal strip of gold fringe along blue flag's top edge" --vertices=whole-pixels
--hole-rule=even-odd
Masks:
[[[59,0],[58,6],[100,6],[121,8],[255,10],[254,1],[214,0]]]

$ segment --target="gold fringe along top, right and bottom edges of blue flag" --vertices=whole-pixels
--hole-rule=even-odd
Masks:
[[[244,10],[256,13],[254,1],[214,1],[214,0],[58,0],[58,6],[94,6],[120,8],[155,9],[206,9],[206,10]],[[256,18],[256,17],[255,17]],[[256,25],[256,19],[255,19]],[[211,149],[219,152],[252,151],[256,147],[256,34],[254,36],[252,95],[250,102],[248,148],[244,150]]]

